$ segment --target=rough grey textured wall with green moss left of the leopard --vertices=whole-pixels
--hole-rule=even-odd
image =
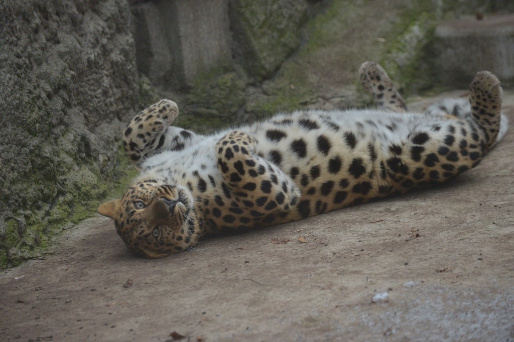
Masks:
[[[0,2],[0,268],[91,215],[138,102],[125,0]]]

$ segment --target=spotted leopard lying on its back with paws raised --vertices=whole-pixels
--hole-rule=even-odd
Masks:
[[[377,63],[363,63],[359,75],[375,106],[282,112],[208,135],[173,126],[175,102],[151,105],[123,132],[139,175],[98,213],[114,220],[128,250],[161,258],[194,250],[205,235],[448,182],[478,165],[506,132],[502,87],[488,71],[471,82],[468,107],[457,101],[424,112],[408,110]]]

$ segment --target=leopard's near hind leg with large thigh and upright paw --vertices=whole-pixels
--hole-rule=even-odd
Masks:
[[[492,73],[482,71],[470,89],[470,116],[427,116],[401,146],[388,148],[384,165],[392,187],[383,187],[383,194],[444,182],[480,163],[498,135],[502,88]]]

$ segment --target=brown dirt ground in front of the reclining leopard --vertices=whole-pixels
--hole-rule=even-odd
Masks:
[[[444,186],[159,260],[86,220],[0,274],[0,340],[512,342],[513,147],[510,129]]]

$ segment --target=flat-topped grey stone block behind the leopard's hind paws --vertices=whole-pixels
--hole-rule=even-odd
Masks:
[[[463,86],[477,70],[489,70],[504,84],[514,82],[514,14],[469,17],[439,24],[437,77]]]

